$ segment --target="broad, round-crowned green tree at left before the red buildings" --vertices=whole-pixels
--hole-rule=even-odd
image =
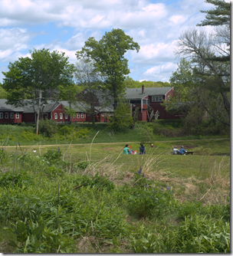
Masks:
[[[47,100],[57,103],[60,99],[59,86],[72,84],[74,65],[58,51],[34,49],[30,53],[31,57],[20,57],[8,65],[8,72],[2,72],[5,75],[2,87],[9,104],[15,107],[30,104],[39,114],[40,110],[43,113]]]

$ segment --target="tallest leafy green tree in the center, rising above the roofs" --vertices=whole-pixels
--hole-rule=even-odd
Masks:
[[[125,75],[130,74],[128,60],[124,54],[128,50],[139,51],[139,44],[133,41],[120,28],[106,32],[100,41],[89,38],[82,51],[77,51],[77,59],[91,57],[100,73],[105,75],[104,88],[110,90],[114,99],[114,109],[117,108],[117,99],[123,95]]]

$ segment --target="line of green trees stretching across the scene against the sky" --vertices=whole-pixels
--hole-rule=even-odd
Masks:
[[[189,106],[190,116],[202,120],[206,111],[215,122],[230,125],[230,3],[224,0],[206,0],[215,8],[206,13],[205,20],[196,28],[183,31],[176,44],[175,54],[181,58],[172,72],[169,83],[143,81],[145,87],[173,86],[175,94],[165,102],[166,110],[176,111],[178,101]],[[212,26],[207,33],[202,26]],[[123,97],[126,88],[141,87],[142,82],[129,76],[127,51],[139,51],[139,44],[120,28],[106,32],[100,41],[89,38],[76,52],[77,64],[70,64],[68,57],[49,49],[30,51],[31,57],[20,57],[8,65],[0,86],[0,94],[14,106],[31,104],[34,111],[41,110],[47,100],[57,103],[68,100],[67,113],[74,112],[75,95],[79,94],[79,107],[90,113],[93,123],[96,95],[102,107]],[[74,83],[74,80],[76,83]],[[41,102],[38,106],[39,95]],[[27,102],[25,102],[27,100]],[[73,112],[72,112],[73,111]]]

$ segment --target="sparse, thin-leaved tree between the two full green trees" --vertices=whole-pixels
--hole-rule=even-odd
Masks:
[[[83,56],[75,66],[74,77],[82,90],[77,94],[77,99],[73,101],[73,104],[74,106],[78,104],[79,108],[89,113],[92,125],[95,126],[96,108],[101,110],[101,108],[109,105],[106,95],[101,90],[103,74],[97,69],[90,57]]]

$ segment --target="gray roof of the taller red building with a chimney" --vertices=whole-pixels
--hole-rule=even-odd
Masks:
[[[165,95],[172,89],[172,87],[151,87],[144,88],[145,94],[142,94],[142,88],[130,88],[126,90],[124,97],[127,100],[141,100],[146,96],[151,95]]]

